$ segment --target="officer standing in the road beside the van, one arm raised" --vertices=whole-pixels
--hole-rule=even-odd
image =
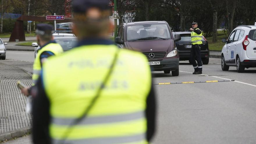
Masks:
[[[190,53],[190,62],[192,63],[195,72],[193,74],[202,74],[202,59],[201,59],[201,47],[202,47],[202,31],[198,28],[197,22],[192,23],[190,28],[191,32],[191,53]],[[196,63],[196,61],[197,63]]]

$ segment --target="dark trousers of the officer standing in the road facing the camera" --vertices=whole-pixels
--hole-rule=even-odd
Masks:
[[[202,45],[192,45],[190,52],[190,62],[192,63],[195,71],[202,72],[202,59],[201,59],[201,49]],[[196,63],[197,61],[197,63]]]

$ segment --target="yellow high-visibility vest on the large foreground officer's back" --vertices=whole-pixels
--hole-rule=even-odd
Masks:
[[[116,50],[115,45],[81,46],[44,63],[42,75],[51,103],[49,131],[53,143],[63,139],[67,127],[90,104]],[[65,141],[146,144],[145,108],[152,85],[147,62],[143,54],[121,49],[101,96],[85,120],[72,127]]]

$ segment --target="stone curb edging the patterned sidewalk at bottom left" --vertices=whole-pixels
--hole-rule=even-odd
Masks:
[[[0,134],[0,143],[6,140],[13,139],[15,137],[22,137],[28,133],[31,133],[32,128],[31,127],[25,127],[21,129],[17,129],[14,131],[9,131],[3,134]]]

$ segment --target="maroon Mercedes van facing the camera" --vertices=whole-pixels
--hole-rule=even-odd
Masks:
[[[118,47],[141,51],[148,59],[152,71],[164,71],[173,76],[179,75],[179,54],[175,41],[180,35],[171,34],[165,21],[122,23],[115,42]]]

